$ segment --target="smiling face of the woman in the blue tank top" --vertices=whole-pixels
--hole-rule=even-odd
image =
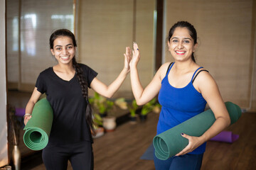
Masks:
[[[197,45],[193,41],[187,28],[177,27],[168,42],[169,51],[174,60],[179,62],[192,60],[191,56],[195,52]]]

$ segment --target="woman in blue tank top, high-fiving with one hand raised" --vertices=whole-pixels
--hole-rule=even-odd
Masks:
[[[193,53],[198,45],[197,34],[191,23],[175,23],[169,30],[167,43],[175,62],[162,64],[146,88],[139,81],[139,47],[134,43],[129,63],[132,91],[138,105],[149,102],[159,94],[162,108],[157,134],[202,113],[208,103],[215,115],[215,123],[201,137],[182,133],[189,141],[188,146],[175,157],[165,161],[154,157],[156,169],[201,169],[206,141],[228,127],[230,117],[215,80],[208,71],[196,64]]]

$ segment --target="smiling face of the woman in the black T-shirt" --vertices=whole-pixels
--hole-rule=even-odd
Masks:
[[[56,38],[53,42],[53,49],[50,49],[50,52],[52,52],[59,64],[72,64],[72,59],[75,56],[73,40],[68,36]]]

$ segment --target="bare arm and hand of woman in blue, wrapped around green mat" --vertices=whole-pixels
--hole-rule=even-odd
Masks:
[[[203,98],[206,99],[210,109],[213,111],[215,116],[215,123],[201,135],[201,137],[192,137],[184,134],[183,137],[188,139],[188,146],[185,147],[176,156],[192,152],[194,149],[202,145],[204,142],[210,140],[219,132],[224,130],[230,125],[230,116],[228,110],[225,107],[223,98],[220,95],[218,85],[215,83],[213,77],[208,72],[201,72],[198,74],[194,86],[198,86],[198,90],[201,91]]]

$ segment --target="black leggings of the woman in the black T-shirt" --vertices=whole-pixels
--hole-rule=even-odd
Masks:
[[[43,164],[47,170],[66,170],[68,160],[73,170],[92,170],[92,143],[82,141],[67,145],[47,145],[43,149]]]

